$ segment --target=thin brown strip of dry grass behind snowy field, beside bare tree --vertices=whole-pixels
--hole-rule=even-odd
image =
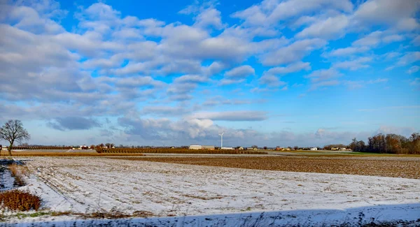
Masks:
[[[7,152],[1,152],[1,156],[8,156]],[[12,156],[143,156],[144,154],[125,154],[125,153],[94,153],[94,152],[12,152]]]

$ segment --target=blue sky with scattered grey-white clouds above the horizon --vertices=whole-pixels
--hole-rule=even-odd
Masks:
[[[0,0],[0,124],[20,119],[42,145],[409,136],[420,130],[419,10],[418,0]]]

